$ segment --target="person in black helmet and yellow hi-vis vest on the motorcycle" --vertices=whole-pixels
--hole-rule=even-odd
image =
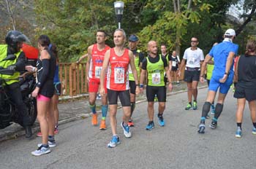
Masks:
[[[18,84],[18,77],[20,71],[25,71],[25,54],[21,47],[27,38],[20,31],[9,31],[5,37],[6,44],[0,44],[0,66],[3,68],[14,69],[15,73],[12,75],[0,74],[1,78],[8,79],[6,84],[7,92],[12,98],[18,109],[20,117],[23,117],[23,126],[26,130],[26,138],[31,138],[31,119],[26,105],[23,102],[20,92],[20,84]],[[4,60],[8,55],[15,55],[15,60]]]

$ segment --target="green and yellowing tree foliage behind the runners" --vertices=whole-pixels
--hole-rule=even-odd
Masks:
[[[50,36],[59,48],[62,62],[77,60],[85,53],[95,42],[97,29],[107,31],[107,44],[113,46],[112,34],[117,28],[114,0],[0,1],[1,37],[13,29],[6,1],[10,2],[16,29],[34,44],[40,34]],[[240,8],[242,20],[234,21],[227,15],[232,5]],[[214,42],[222,41],[226,28],[238,32],[236,43],[244,48],[246,40],[255,37],[255,6],[255,0],[124,0],[121,28],[127,36],[137,34],[139,47],[145,52],[147,42],[154,39],[182,55],[191,37],[197,36],[199,47],[206,54]]]

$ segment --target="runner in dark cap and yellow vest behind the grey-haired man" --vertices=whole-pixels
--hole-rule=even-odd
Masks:
[[[138,79],[140,79],[140,68],[142,66],[142,61],[144,59],[143,52],[138,50],[137,45],[138,45],[138,36],[132,34],[129,36],[129,50],[132,51],[134,60],[135,60],[135,67],[136,70],[138,71]],[[128,125],[129,127],[133,127],[134,123],[132,122],[132,113],[135,110],[135,90],[136,90],[136,84],[135,84],[135,78],[133,77],[132,74],[132,68],[129,66],[129,95],[131,99],[131,117],[129,118]]]

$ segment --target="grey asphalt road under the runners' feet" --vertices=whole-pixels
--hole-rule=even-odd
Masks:
[[[57,146],[50,154],[33,157],[40,138],[24,138],[0,143],[0,168],[256,168],[256,135],[246,106],[243,137],[235,138],[236,99],[227,95],[216,130],[206,127],[206,133],[197,133],[201,108],[207,89],[198,92],[198,110],[185,111],[187,93],[167,97],[164,114],[166,125],[159,127],[155,113],[155,128],[145,130],[148,123],[147,103],[138,103],[134,112],[135,127],[132,138],[125,138],[120,127],[121,109],[118,110],[118,135],[121,144],[107,147],[111,138],[108,130],[91,126],[91,117],[78,119],[60,126],[56,135]],[[157,104],[155,104],[157,112]],[[206,121],[206,125],[211,120]]]

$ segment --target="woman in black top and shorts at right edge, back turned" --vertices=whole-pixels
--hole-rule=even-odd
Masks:
[[[236,137],[241,138],[241,123],[246,101],[249,103],[252,118],[252,134],[256,135],[256,41],[246,44],[246,53],[238,58],[235,70],[236,91],[238,107],[236,111],[237,130]]]

